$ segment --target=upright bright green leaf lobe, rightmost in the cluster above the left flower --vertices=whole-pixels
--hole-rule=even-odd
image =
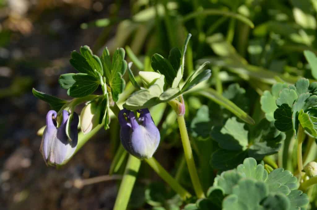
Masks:
[[[111,65],[111,76],[109,78],[109,86],[111,87],[111,93],[113,101],[118,101],[119,94],[122,93],[126,82],[122,78],[126,72],[127,63],[124,60],[125,51],[123,48],[119,48],[114,52]]]

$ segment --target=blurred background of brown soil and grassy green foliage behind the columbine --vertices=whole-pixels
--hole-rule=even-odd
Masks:
[[[298,76],[312,78],[302,52],[316,52],[316,11],[314,0],[0,0],[0,210],[113,208],[118,180],[86,186],[74,185],[74,180],[108,173],[119,144],[115,120],[112,129],[101,130],[60,169],[47,167],[39,153],[36,132],[50,108],[31,89],[70,99],[58,78],[75,72],[69,64],[72,50],[88,45],[100,55],[105,46],[110,53],[129,46],[126,50],[141,61],[134,63],[137,75],[138,70],[151,70],[153,53],[168,56],[191,33],[185,77],[208,59],[224,88],[233,81],[251,87],[258,103],[275,75],[290,82]],[[217,81],[210,84],[222,93]],[[188,101],[189,120],[202,103],[209,103],[195,97]],[[240,105],[250,111],[244,101]],[[159,122],[164,141],[156,157],[175,174],[182,151],[168,113]],[[139,177],[129,207],[159,205],[149,201],[146,189],[150,180],[160,179],[145,164]]]

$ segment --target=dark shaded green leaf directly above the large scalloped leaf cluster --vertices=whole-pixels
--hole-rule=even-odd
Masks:
[[[217,149],[211,154],[210,165],[220,171],[225,171],[236,167],[242,163],[246,157],[248,157],[248,151]]]

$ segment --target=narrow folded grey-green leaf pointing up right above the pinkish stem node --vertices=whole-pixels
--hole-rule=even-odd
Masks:
[[[200,82],[209,79],[211,76],[210,69],[204,69],[204,67],[208,64],[208,62],[204,62],[196,71],[194,71],[189,78],[186,80],[183,88],[182,93],[186,92],[187,90],[195,87]]]

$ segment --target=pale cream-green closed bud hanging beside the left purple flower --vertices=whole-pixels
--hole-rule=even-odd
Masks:
[[[80,124],[84,134],[89,133],[99,124],[101,108],[97,101],[93,101],[81,110]]]

